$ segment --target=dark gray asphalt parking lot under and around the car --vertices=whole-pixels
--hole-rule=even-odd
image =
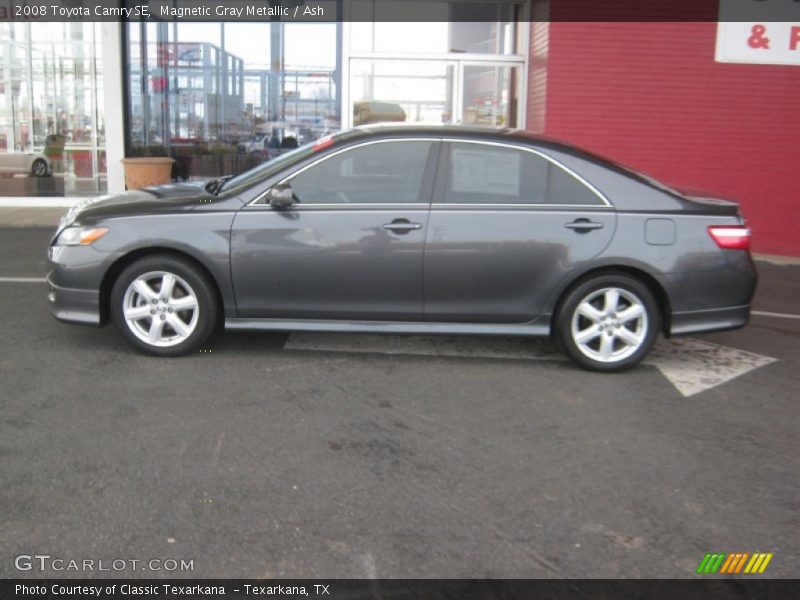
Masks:
[[[45,229],[0,229],[0,575],[693,577],[800,560],[800,319],[662,344],[619,375],[549,344],[226,334],[155,359],[60,324]],[[755,309],[798,314],[800,267]],[[3,279],[5,278],[5,279]],[[682,344],[682,345],[681,345]],[[108,575],[108,573],[95,573]]]

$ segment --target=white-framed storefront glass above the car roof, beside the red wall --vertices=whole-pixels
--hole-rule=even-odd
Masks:
[[[442,21],[426,23],[382,22],[396,3],[354,4],[376,20],[348,25],[347,125],[523,125],[526,3],[432,1]]]

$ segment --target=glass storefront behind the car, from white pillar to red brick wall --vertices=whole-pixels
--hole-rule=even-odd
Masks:
[[[431,1],[442,20],[416,23],[394,21],[396,2],[350,4],[375,20],[127,24],[126,154],[204,179],[343,127],[523,125],[526,2]]]

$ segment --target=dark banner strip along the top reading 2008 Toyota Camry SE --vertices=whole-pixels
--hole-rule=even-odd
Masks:
[[[800,0],[0,0],[0,22],[798,22]]]

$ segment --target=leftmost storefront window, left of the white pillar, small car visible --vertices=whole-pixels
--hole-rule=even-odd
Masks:
[[[0,196],[106,189],[99,25],[0,23]]]

